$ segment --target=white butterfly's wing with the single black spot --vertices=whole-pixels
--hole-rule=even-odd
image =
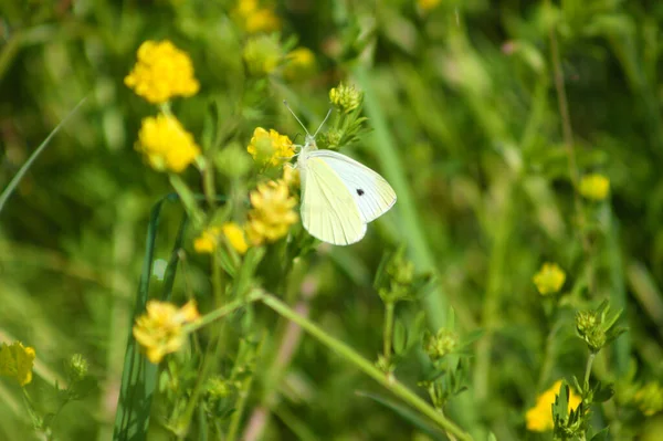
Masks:
[[[357,202],[361,220],[368,223],[396,203],[396,192],[380,175],[356,160],[333,150],[315,150],[312,159],[323,160],[338,176]]]

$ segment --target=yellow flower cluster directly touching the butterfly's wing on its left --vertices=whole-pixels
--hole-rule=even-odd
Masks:
[[[282,180],[259,183],[251,192],[251,204],[246,235],[254,245],[277,241],[297,222],[297,213],[293,211],[297,202]]]

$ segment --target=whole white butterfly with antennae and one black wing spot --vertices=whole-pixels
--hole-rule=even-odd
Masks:
[[[304,127],[290,107],[288,111]],[[366,224],[393,207],[396,192],[370,168],[339,153],[318,150],[315,136],[319,128],[313,136],[306,127],[304,130],[306,140],[297,158],[302,223],[323,242],[335,245],[358,242],[366,234]]]

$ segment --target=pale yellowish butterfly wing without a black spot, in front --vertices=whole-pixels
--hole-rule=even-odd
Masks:
[[[335,245],[349,245],[366,234],[366,223],[352,195],[322,158],[308,157],[301,169],[302,223],[313,235]]]

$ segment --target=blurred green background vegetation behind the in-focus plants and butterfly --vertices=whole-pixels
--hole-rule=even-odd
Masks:
[[[366,92],[375,132],[343,151],[383,174],[399,202],[361,243],[323,246],[311,315],[369,359],[377,357],[382,305],[372,276],[382,252],[406,242],[418,270],[435,273],[439,285],[421,305],[400,308],[403,321],[424,308],[434,330],[449,324],[446,306],[453,305],[461,333],[488,330],[475,347],[470,390],[451,406],[452,418],[477,438],[492,430],[499,440],[547,439],[525,431],[525,410],[555,379],[582,372],[586,353],[572,321],[551,318],[532,283],[545,261],[565,269],[566,292],[625,308],[630,330],[599,357],[594,376],[614,381],[632,374],[631,385],[660,378],[663,3],[270,4],[280,18],[283,53],[311,49],[312,72],[248,78],[246,36],[233,24],[231,1],[0,0],[3,186],[87,96],[0,212],[0,340],[35,348],[30,391],[44,407],[52,400],[49,385],[62,378],[74,353],[90,360],[98,384],[59,417],[57,439],[112,433],[147,219],[170,191],[167,177],[133,148],[140,119],[156,112],[123,84],[145,40],[168,39],[190,54],[201,92],[176,101],[173,112],[197,139],[211,109],[229,122],[229,144],[245,146],[256,126],[293,138],[301,129],[282,108],[284,98],[317,127],[339,80]],[[581,203],[589,223],[582,231],[550,29],[557,30],[557,80],[566,84],[578,171],[599,171],[611,182],[609,200]],[[199,188],[194,171],[186,178]],[[166,210],[158,259],[168,259],[180,216],[176,207]],[[203,266],[190,259],[185,271],[202,286]],[[552,322],[564,326],[549,337]],[[397,375],[417,388],[415,368],[408,366]],[[304,338],[265,439],[415,437],[408,421],[357,390],[380,392]],[[619,420],[622,438],[615,439],[644,437],[656,421],[634,424],[614,406],[597,409],[594,420],[599,428]],[[0,439],[28,439],[21,437],[29,421],[19,388],[0,381]]]

